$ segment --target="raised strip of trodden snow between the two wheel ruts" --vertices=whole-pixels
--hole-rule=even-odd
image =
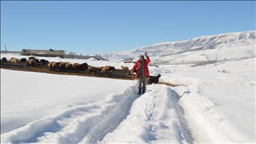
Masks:
[[[193,143],[179,97],[167,85],[148,85],[127,119],[99,143]]]

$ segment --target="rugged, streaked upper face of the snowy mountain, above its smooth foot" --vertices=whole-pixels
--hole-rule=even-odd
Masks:
[[[199,52],[212,49],[230,49],[232,47],[247,47],[246,49],[251,51],[251,54],[247,56],[255,57],[255,32],[256,31],[253,30],[235,33],[221,33],[219,35],[195,37],[185,41],[156,43],[154,45],[138,47],[129,51],[103,53],[101,54],[101,57],[106,57],[109,61],[121,61],[122,59],[127,59],[129,57],[136,59],[139,55],[143,55],[143,53],[147,51],[149,56],[155,60],[163,60],[165,57],[170,55],[179,55],[191,51]],[[243,55],[243,57],[244,56],[245,55]],[[173,61],[174,59],[166,60]]]

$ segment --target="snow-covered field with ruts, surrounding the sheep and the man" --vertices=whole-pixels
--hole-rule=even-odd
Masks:
[[[134,91],[131,80],[1,69],[1,143],[255,143],[255,57],[149,72],[181,86],[147,85],[139,96],[136,79]]]

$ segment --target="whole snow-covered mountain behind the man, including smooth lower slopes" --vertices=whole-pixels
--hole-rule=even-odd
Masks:
[[[129,51],[104,53],[101,54],[101,57],[105,57],[109,61],[121,61],[129,57],[137,60],[139,55],[143,55],[145,51],[147,51],[153,63],[157,63],[157,61],[167,61],[170,63],[255,57],[255,32],[253,30],[223,33],[201,36],[186,41],[157,43]],[[196,59],[195,56],[197,57]]]

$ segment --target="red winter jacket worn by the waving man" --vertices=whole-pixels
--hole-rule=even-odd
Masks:
[[[135,65],[133,66],[133,69],[131,69],[132,71],[136,70],[136,77],[139,77],[139,65],[140,65],[140,59],[138,61],[136,61]],[[150,59],[149,56],[147,56],[147,59],[144,59],[143,61],[143,75],[147,76],[147,78],[149,77],[149,67],[147,67],[147,65],[150,63]]]

